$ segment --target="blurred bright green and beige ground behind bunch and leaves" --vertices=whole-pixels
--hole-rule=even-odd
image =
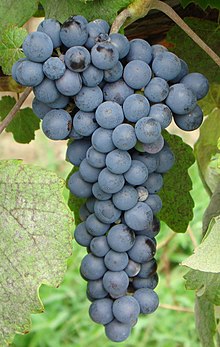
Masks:
[[[194,142],[191,136],[186,138]],[[68,175],[71,165],[65,162],[65,141],[49,141],[39,130],[36,140],[29,145],[14,142],[12,135],[1,135],[0,159],[20,158],[55,171],[59,176]],[[79,275],[79,265],[85,250],[73,241],[73,254],[68,262],[63,283],[59,288],[42,285],[40,297],[45,312],[32,315],[32,330],[25,336],[17,335],[14,347],[197,347],[200,346],[194,324],[194,293],[186,291],[183,275],[186,268],[179,264],[201,240],[202,215],[208,204],[196,165],[190,168],[193,180],[192,197],[195,201],[194,218],[186,234],[174,234],[162,224],[157,237],[159,285],[156,291],[160,307],[149,316],[140,317],[130,338],[123,343],[107,340],[104,329],[93,323],[88,315],[89,301],[86,298],[86,282]],[[68,197],[67,190],[64,191]]]

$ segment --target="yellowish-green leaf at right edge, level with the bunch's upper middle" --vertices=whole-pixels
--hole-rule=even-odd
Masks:
[[[218,153],[220,150],[217,147],[220,137],[220,85],[210,88],[209,96],[206,101],[201,104],[205,106],[205,114],[208,117],[200,127],[200,136],[195,144],[195,155],[198,161],[203,181],[208,186],[211,192],[214,192],[220,183],[220,175],[218,169]]]

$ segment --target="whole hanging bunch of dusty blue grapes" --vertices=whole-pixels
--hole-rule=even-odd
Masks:
[[[158,192],[175,161],[162,132],[172,120],[185,131],[201,125],[197,100],[209,84],[164,46],[109,30],[80,15],[62,25],[45,19],[25,39],[12,76],[33,87],[45,135],[70,139],[67,160],[78,170],[68,187],[85,198],[74,237],[87,249],[80,273],[89,315],[120,342],[159,304]]]

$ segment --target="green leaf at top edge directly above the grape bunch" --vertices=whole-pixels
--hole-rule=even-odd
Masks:
[[[69,16],[81,14],[88,21],[96,18],[112,23],[118,12],[127,7],[132,0],[99,0],[82,2],[80,0],[42,0],[47,18],[56,18],[63,23]]]

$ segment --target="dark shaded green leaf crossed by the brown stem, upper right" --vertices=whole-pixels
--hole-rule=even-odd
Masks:
[[[218,23],[198,18],[184,18],[184,21],[220,54]],[[167,41],[174,45],[172,51],[187,62],[191,72],[203,73],[210,83],[220,82],[219,66],[177,25],[168,32]]]

